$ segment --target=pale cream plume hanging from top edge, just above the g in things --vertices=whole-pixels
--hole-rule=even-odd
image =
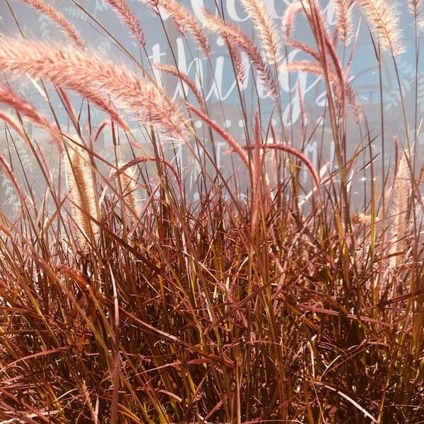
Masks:
[[[279,40],[273,18],[264,0],[241,0],[249,13],[254,29],[259,35],[262,48],[269,64],[278,64],[281,60],[281,41]]]

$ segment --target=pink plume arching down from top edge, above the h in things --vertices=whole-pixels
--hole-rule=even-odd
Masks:
[[[187,33],[192,33],[196,41],[203,49],[206,56],[211,54],[211,47],[204,34],[204,31],[199,24],[199,21],[194,18],[187,8],[178,4],[175,0],[140,0],[143,3],[151,4],[155,8],[163,8],[175,23],[177,30],[182,35],[186,36]]]

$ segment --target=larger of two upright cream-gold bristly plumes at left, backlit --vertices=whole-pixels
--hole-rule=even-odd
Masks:
[[[81,139],[76,140],[83,144]],[[86,237],[98,235],[98,225],[90,217],[100,220],[95,205],[95,186],[90,157],[85,148],[73,145],[69,158],[65,155],[66,187],[73,201],[73,215],[80,230]]]

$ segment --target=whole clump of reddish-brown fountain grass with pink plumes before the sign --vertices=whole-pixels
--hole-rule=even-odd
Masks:
[[[391,2],[335,0],[331,30],[318,1],[290,3],[278,21],[269,2],[241,0],[249,37],[225,16],[225,2],[207,4],[199,21],[182,2],[143,0],[154,19],[163,24],[166,13],[179,36],[194,39],[202,66],[215,63],[213,37],[223,39],[238,133],[225,122],[228,105],[206,101],[199,69],[193,79],[177,60],[151,64],[146,41],[155,34],[144,33],[124,0],[107,4],[141,47],[140,59],[78,0],[119,59],[93,52],[54,4],[24,2],[75,46],[0,38],[0,71],[11,84],[0,88],[7,194],[0,208],[0,422],[422,422],[419,107],[416,95],[412,146],[411,103],[397,64],[404,35]],[[418,28],[421,2],[409,7]],[[351,80],[362,54],[353,42],[358,13],[372,28],[378,124]],[[298,37],[300,25],[308,40]],[[176,59],[172,33],[165,36]],[[417,78],[418,47],[416,31]],[[377,179],[389,152],[385,54],[401,96],[405,128],[396,131],[406,141],[403,149],[396,144],[394,172],[382,166]],[[185,101],[172,102],[153,71],[177,78]],[[298,74],[323,88],[320,116],[302,78],[286,105],[281,88]],[[48,114],[17,94],[21,76],[35,85],[42,78]],[[66,135],[57,100],[78,136]],[[100,124],[93,108],[106,114]],[[295,113],[300,124],[285,124]],[[63,155],[48,154],[45,135]],[[112,158],[100,150],[102,139]],[[218,146],[225,146],[219,163]]]

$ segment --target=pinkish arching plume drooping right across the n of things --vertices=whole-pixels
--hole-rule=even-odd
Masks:
[[[268,88],[272,94],[275,94],[277,90],[273,78],[271,77],[271,72],[269,71],[269,68],[266,65],[257,45],[255,45],[254,42],[245,35],[245,33],[242,33],[242,31],[240,31],[240,29],[232,23],[224,22],[222,19],[216,18],[207,11],[204,11],[204,16],[204,25],[206,28],[211,30],[212,33],[216,33],[220,35],[220,37],[223,37],[223,39],[228,42],[228,45],[235,45],[242,49],[258,70],[264,86]]]

